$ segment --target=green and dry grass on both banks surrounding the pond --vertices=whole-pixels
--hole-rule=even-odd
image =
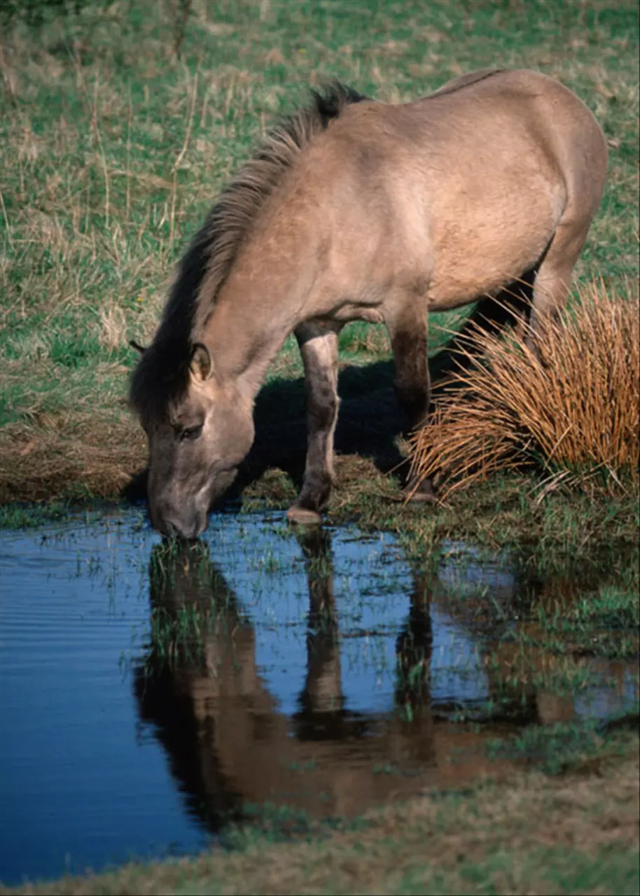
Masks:
[[[56,518],[71,501],[141,493],[146,445],[125,405],[135,362],[127,340],[151,338],[174,265],[221,186],[265,128],[324,77],[393,102],[492,65],[558,77],[592,108],[610,149],[572,306],[593,283],[622,303],[637,277],[635,0],[193,0],[180,37],[184,8],[169,0],[80,4],[77,15],[46,14],[38,26],[16,17],[3,29],[5,527]],[[432,373],[442,383],[445,346],[465,314],[434,314],[429,323]],[[561,701],[592,676],[591,660],[633,659],[636,486],[545,491],[548,472],[511,470],[433,511],[405,505],[391,473],[406,446],[385,331],[352,324],[340,349],[329,521],[392,530],[417,564],[445,539],[489,552],[508,547],[533,577],[556,582],[533,601],[516,640],[490,645],[489,671],[512,704],[534,685]],[[246,509],[284,506],[297,493],[301,375],[290,338],[256,404],[255,448],[234,493]],[[277,557],[265,557],[264,572],[278,572]],[[160,566],[156,574],[162,590]],[[562,582],[575,589],[575,581],[581,593],[567,595]],[[173,662],[211,619],[157,622],[160,659]],[[573,770],[566,778],[527,774],[390,806],[358,831],[286,845],[250,834],[238,854],[131,866],[40,890],[637,892],[637,743],[622,738],[610,749],[618,735],[572,730],[535,731],[512,745],[520,756],[542,757],[548,771],[554,762]]]

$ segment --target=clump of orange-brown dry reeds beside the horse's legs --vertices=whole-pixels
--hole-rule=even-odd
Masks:
[[[638,487],[640,318],[631,289],[593,281],[543,323],[508,338],[480,326],[430,422],[411,438],[417,481],[445,476],[444,499],[498,471],[544,472],[544,489]]]

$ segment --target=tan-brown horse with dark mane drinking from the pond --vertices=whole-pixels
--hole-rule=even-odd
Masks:
[[[307,467],[290,518],[333,481],[338,333],[384,322],[409,426],[428,415],[428,311],[532,276],[532,325],[566,303],[607,148],[580,99],[527,71],[464,75],[378,103],[335,84],[279,125],[187,250],[131,401],[149,438],[151,521],[195,537],[254,439],[267,368],[295,332]],[[432,495],[424,483],[420,497]]]

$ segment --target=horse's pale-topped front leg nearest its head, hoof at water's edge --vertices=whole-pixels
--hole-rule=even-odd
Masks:
[[[287,513],[294,522],[319,522],[331,495],[333,433],[340,404],[338,332],[315,323],[303,323],[296,330],[307,388],[307,463],[302,491]]]

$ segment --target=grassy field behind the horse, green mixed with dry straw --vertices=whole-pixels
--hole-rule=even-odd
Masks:
[[[125,407],[126,340],[151,338],[173,266],[213,198],[323,77],[402,101],[497,61],[557,76],[610,144],[577,283],[601,277],[615,289],[633,278],[636,25],[636,4],[624,0],[199,0],[178,56],[177,4],[80,4],[36,30],[15,19],[2,44],[0,501],[115,497],[143,469],[143,433]],[[437,367],[463,315],[431,323]],[[341,349],[338,514],[397,463],[402,425],[390,410],[385,332],[351,325]],[[283,503],[298,486],[300,375],[288,340],[265,386],[266,463],[250,467],[247,496]],[[400,496],[394,479],[383,485]]]

